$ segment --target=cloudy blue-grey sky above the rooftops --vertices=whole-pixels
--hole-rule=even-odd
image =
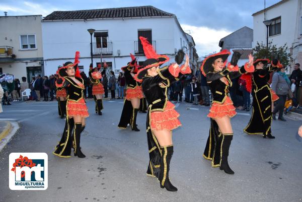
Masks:
[[[266,7],[279,0],[266,0]],[[0,15],[47,16],[53,11],[154,6],[177,16],[184,31],[190,31],[199,56],[218,51],[220,38],[248,26],[252,14],[264,9],[264,0],[26,0],[0,1]]]

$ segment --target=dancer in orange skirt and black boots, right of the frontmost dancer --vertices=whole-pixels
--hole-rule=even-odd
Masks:
[[[233,140],[231,117],[236,115],[235,107],[229,96],[229,87],[232,79],[240,77],[247,72],[254,72],[253,56],[249,55],[249,62],[238,68],[237,62],[241,56],[234,52],[231,62],[227,66],[226,59],[231,54],[222,50],[203,60],[201,72],[206,76],[213,101],[210,112],[211,125],[203,157],[212,161],[212,167],[220,167],[225,173],[234,174],[228,163],[229,149]]]

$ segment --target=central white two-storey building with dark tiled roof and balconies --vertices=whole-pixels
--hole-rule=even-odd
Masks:
[[[152,6],[55,11],[42,20],[45,75],[54,74],[63,62],[73,61],[75,51],[80,51],[80,66],[88,73],[91,63],[88,29],[95,29],[93,65],[101,62],[102,53],[108,71],[112,69],[115,73],[131,60],[130,53],[140,64],[145,60],[139,36],[147,37],[158,54],[167,54],[169,62],[174,62],[179,48],[191,47],[176,16]],[[196,52],[194,47],[191,49]]]

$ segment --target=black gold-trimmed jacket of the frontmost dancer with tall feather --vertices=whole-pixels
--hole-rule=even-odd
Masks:
[[[143,78],[141,86],[145,98],[153,111],[164,111],[168,96],[168,87],[172,82],[179,80],[183,75],[179,73],[178,78],[175,78],[169,72],[169,66],[165,66],[158,71],[158,75],[155,77],[146,76]]]

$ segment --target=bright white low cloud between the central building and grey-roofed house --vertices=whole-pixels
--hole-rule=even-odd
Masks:
[[[219,51],[221,48],[218,46],[219,40],[229,34],[230,31],[225,29],[215,30],[208,27],[196,27],[186,24],[181,24],[183,30],[191,31],[191,36],[195,41],[195,48],[200,56]]]

